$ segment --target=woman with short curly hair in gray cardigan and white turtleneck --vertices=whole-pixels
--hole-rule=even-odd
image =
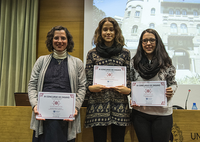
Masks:
[[[52,28],[47,34],[46,46],[53,53],[37,59],[28,85],[33,109],[33,142],[75,142],[76,134],[81,132],[79,110],[85,96],[84,66],[80,59],[68,54],[74,42],[67,28]],[[36,119],[38,92],[76,93],[75,120]]]

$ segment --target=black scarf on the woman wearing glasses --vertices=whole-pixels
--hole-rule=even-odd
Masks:
[[[153,78],[159,70],[159,63],[157,58],[155,57],[149,63],[148,58],[146,56],[143,56],[138,64],[138,73],[142,78],[147,80]]]

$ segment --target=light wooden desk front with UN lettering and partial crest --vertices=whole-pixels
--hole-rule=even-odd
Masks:
[[[174,110],[173,142],[200,141],[200,110]]]

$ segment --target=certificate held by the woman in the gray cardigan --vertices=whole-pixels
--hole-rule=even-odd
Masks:
[[[74,120],[75,100],[75,93],[39,92],[36,118]]]

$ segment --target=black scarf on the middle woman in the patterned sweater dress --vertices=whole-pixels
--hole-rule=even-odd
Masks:
[[[118,53],[121,53],[123,46],[117,47],[113,44],[111,47],[107,47],[105,44],[98,44],[96,46],[97,54],[104,58],[110,58]]]

